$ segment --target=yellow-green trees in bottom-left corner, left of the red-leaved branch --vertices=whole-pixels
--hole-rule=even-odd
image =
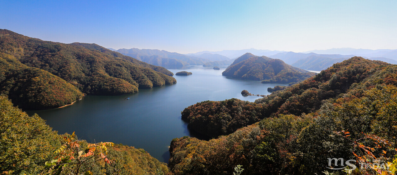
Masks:
[[[39,116],[28,116],[0,96],[0,174],[39,174],[60,139]]]

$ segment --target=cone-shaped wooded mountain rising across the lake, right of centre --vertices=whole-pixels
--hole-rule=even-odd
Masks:
[[[237,58],[222,75],[251,80],[264,80],[263,83],[291,83],[304,80],[316,73],[287,65],[282,60],[246,53]]]

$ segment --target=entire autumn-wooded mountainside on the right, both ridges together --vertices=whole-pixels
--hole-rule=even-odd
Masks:
[[[254,103],[197,103],[182,112],[189,127],[225,136],[175,138],[169,167],[175,174],[230,174],[241,167],[243,175],[334,173],[328,158],[356,160],[357,167],[394,160],[395,166],[396,85],[397,65],[353,57]]]

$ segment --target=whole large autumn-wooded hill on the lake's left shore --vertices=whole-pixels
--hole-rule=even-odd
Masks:
[[[71,104],[176,83],[172,72],[97,44],[43,41],[0,29],[0,93],[21,108]]]

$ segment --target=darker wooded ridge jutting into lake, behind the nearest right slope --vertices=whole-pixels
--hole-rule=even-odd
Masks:
[[[389,66],[390,69],[386,69],[386,66]],[[371,69],[373,70],[371,71]],[[387,80],[388,83],[394,82],[397,85],[397,79],[393,78],[394,75],[387,74],[385,70],[396,73],[397,65],[367,60],[361,57],[353,57],[341,63],[336,63],[332,67],[321,71],[321,73],[297,85],[288,87],[285,90],[273,92],[265,98],[258,99],[255,101],[256,104],[247,104],[251,106],[257,106],[257,104],[264,105],[262,107],[263,111],[256,110],[258,113],[256,113],[255,117],[245,115],[244,113],[232,115],[232,117],[211,117],[218,114],[218,111],[215,110],[217,108],[204,110],[206,109],[205,106],[214,107],[214,105],[209,104],[211,102],[201,102],[200,104],[189,106],[183,110],[182,118],[189,122],[191,128],[200,128],[197,129],[198,132],[216,137],[217,134],[228,134],[231,131],[246,126],[247,123],[252,124],[259,121],[263,117],[278,114],[301,115],[301,113],[315,112],[320,108],[322,100],[330,100],[332,102],[332,100],[341,97],[339,96],[340,94],[347,92],[351,95],[359,96],[363,89],[371,86],[374,82],[378,82],[379,80],[377,79],[379,78]],[[354,83],[360,83],[367,77],[368,80],[365,80],[368,81],[367,84],[351,87]],[[222,108],[222,106],[226,107],[226,104],[227,101],[218,103],[218,105],[220,105],[219,107],[223,110],[225,110],[225,108]],[[236,108],[236,105],[234,105],[233,108]],[[244,107],[241,106],[241,108]],[[253,107],[251,108],[254,109]],[[206,132],[209,128],[206,127],[208,124],[205,123],[216,125],[218,127],[217,131],[214,131],[216,127],[211,127],[211,132]]]

